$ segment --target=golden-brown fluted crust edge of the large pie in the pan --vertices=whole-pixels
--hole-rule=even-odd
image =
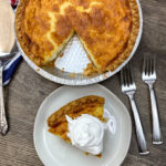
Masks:
[[[17,13],[15,13],[15,31],[17,31],[17,38],[18,41],[22,48],[22,50],[24,51],[24,53],[37,64],[37,65],[41,65],[41,59],[39,56],[33,56],[30,49],[29,49],[29,41],[27,38],[27,34],[24,32],[24,23],[23,23],[23,19],[24,19],[24,11],[25,11],[25,7],[28,4],[29,0],[20,0],[19,2],[19,7],[17,9]],[[115,69],[117,69],[131,54],[135,42],[136,42],[136,38],[138,34],[138,30],[139,30],[139,11],[138,11],[138,7],[137,7],[137,2],[136,0],[128,0],[129,7],[131,7],[131,11],[132,11],[132,30],[131,30],[131,35],[128,39],[128,43],[126,49],[120,53],[115,59],[113,59],[107,68],[102,71],[102,73],[106,72],[106,71],[114,71]]]

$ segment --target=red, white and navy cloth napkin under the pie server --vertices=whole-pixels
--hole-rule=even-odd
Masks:
[[[18,4],[18,0],[10,0],[10,3],[12,6],[12,8],[15,9],[15,7]],[[11,59],[11,61],[9,61],[4,65],[4,68],[3,68],[3,85],[7,85],[10,82],[10,80],[11,80],[14,71],[17,70],[18,64],[21,62],[21,60],[22,60],[21,53],[18,52],[13,56],[13,59]]]

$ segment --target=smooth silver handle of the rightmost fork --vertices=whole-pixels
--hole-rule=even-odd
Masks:
[[[163,138],[159,126],[157,102],[153,84],[148,84],[148,87],[151,94],[152,118],[153,118],[153,144],[159,145],[163,143]]]

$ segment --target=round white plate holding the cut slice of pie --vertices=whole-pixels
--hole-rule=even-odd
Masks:
[[[102,158],[84,153],[48,132],[46,120],[64,104],[85,95],[105,97],[105,108],[116,120],[116,133],[104,136]],[[33,139],[37,153],[45,166],[120,166],[131,143],[131,117],[124,104],[102,85],[62,86],[52,92],[37,114]]]

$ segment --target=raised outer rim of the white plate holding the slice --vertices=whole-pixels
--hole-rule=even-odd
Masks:
[[[129,145],[131,145],[131,141],[132,141],[132,120],[131,120],[131,115],[129,115],[129,112],[127,110],[127,107],[124,105],[124,103],[112,92],[110,91],[108,89],[106,89],[105,86],[101,85],[101,84],[94,84],[94,85],[90,85],[90,86],[98,86],[100,89],[103,89],[106,93],[108,93],[110,95],[112,95],[118,103],[121,103],[121,105],[124,107],[124,111],[127,115],[127,118],[128,118],[128,141],[126,143],[126,149],[124,151],[123,153],[123,157],[121,159],[121,162],[118,162],[118,165],[116,166],[120,166],[122,165],[122,163],[124,162],[124,159],[126,158],[127,154],[128,154],[128,151],[129,151]],[[48,163],[45,162],[44,158],[41,157],[41,153],[40,151],[38,151],[38,146],[37,146],[37,138],[35,138],[35,131],[37,131],[37,120],[38,120],[38,116],[40,116],[39,112],[40,110],[43,107],[43,105],[46,103],[48,98],[51,97],[52,95],[54,95],[54,93],[58,93],[58,91],[61,91],[63,87],[72,87],[73,86],[68,86],[68,85],[63,85],[63,86],[60,86],[58,87],[56,90],[54,90],[53,92],[51,92],[44,100],[43,102],[41,103],[38,112],[37,112],[37,115],[35,115],[35,118],[34,118],[34,125],[33,125],[33,145],[34,145],[34,149],[38,154],[38,157],[40,158],[40,160],[45,165],[45,166],[49,166]],[[77,86],[79,89],[81,86]],[[85,86],[83,86],[85,87]]]

